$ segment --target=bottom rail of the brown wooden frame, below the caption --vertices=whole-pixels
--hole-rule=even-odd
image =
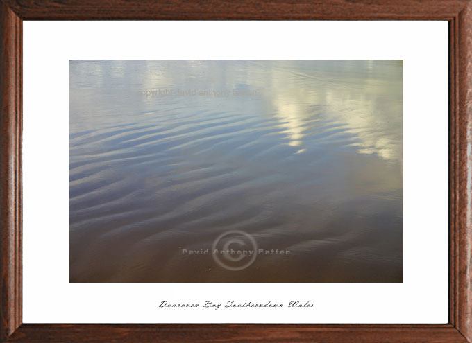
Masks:
[[[8,342],[464,343],[451,325],[25,324]]]

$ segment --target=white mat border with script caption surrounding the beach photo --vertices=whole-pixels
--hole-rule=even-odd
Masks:
[[[25,21],[25,323],[448,322],[446,21]],[[404,60],[404,283],[68,283],[69,59]],[[162,300],[314,308],[162,309]]]

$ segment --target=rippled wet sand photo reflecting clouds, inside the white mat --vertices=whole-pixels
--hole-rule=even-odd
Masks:
[[[402,282],[403,63],[70,61],[69,281]]]

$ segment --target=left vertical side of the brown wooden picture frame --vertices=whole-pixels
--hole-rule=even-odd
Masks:
[[[1,337],[21,324],[22,21],[0,4]]]

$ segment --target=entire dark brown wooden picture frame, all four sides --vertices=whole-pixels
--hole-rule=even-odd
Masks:
[[[22,324],[22,23],[126,19],[447,20],[448,324]],[[0,49],[1,342],[472,342],[472,0],[0,0]]]

